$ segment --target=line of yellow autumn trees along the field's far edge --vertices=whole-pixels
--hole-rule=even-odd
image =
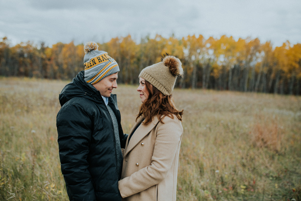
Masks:
[[[97,42],[97,41],[95,41]],[[164,53],[182,61],[184,78],[176,87],[264,93],[301,93],[301,44],[284,42],[273,48],[270,41],[258,38],[202,35],[177,39],[174,36],[145,36],[139,43],[130,35],[98,43],[119,67],[119,83],[137,84],[141,69],[160,62]],[[0,75],[47,79],[72,79],[84,69],[84,44],[57,43],[52,47],[41,42],[11,46],[7,37],[0,42]]]

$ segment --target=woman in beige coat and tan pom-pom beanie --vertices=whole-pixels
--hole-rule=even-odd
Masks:
[[[165,55],[139,74],[141,106],[126,141],[118,188],[123,200],[176,200],[183,110],[172,98],[181,61]]]

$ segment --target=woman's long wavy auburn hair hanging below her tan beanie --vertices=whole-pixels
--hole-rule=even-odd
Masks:
[[[159,121],[163,124],[164,122],[162,121],[162,119],[165,116],[174,119],[173,115],[175,115],[180,121],[182,121],[182,115],[184,110],[179,111],[176,108],[172,94],[164,95],[160,90],[158,90],[155,86],[153,86],[146,80],[145,86],[149,95],[147,99],[144,100],[144,102],[141,104],[136,121],[142,115],[144,117],[143,125],[152,122],[153,118],[156,115],[158,115]]]

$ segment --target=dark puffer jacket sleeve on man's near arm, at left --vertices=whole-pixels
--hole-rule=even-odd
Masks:
[[[87,156],[92,122],[84,109],[66,104],[57,115],[61,170],[70,200],[95,200]]]

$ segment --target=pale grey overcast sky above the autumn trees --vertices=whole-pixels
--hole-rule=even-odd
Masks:
[[[0,38],[11,43],[107,42],[128,34],[259,38],[301,43],[301,0],[0,0]]]

